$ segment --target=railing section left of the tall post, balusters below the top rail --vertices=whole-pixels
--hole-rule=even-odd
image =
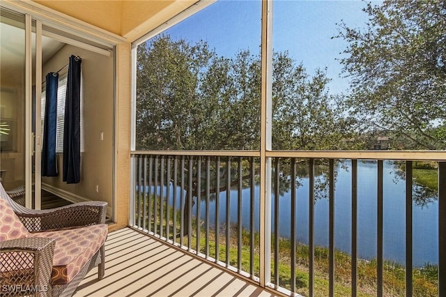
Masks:
[[[238,273],[249,273],[245,276],[258,277],[254,185],[259,158],[132,155],[132,160],[135,227]],[[246,228],[242,227],[242,191],[249,192]],[[236,211],[227,211],[233,206]],[[246,230],[249,242],[243,243]],[[243,266],[246,247],[249,263]],[[231,261],[231,250],[237,251],[235,261]]]

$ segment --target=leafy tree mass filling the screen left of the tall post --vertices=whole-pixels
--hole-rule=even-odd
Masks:
[[[160,36],[137,60],[137,149],[259,148],[258,57]]]

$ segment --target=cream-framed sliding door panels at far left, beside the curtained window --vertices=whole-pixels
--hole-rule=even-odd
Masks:
[[[29,15],[0,8],[0,182],[20,204],[40,209],[43,58],[63,47]],[[43,45],[52,51],[43,54]]]

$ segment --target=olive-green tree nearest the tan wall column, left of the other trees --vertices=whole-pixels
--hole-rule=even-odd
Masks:
[[[137,149],[194,147],[202,118],[197,89],[214,55],[206,43],[168,36],[138,47]]]

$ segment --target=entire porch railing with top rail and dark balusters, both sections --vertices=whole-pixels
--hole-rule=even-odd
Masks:
[[[346,158],[350,155],[350,158]],[[132,211],[130,224],[153,236],[187,250],[208,261],[213,261],[240,273],[261,284],[259,272],[262,267],[259,252],[262,236],[259,232],[258,184],[262,178],[260,156],[252,151],[137,151],[132,153]],[[405,208],[405,261],[400,266],[405,271],[404,291],[406,296],[414,295],[413,281],[413,160],[429,160],[438,164],[438,282],[439,296],[445,292],[446,283],[446,155],[444,152],[269,152],[271,170],[271,209],[272,228],[270,245],[271,267],[266,284],[282,294],[316,295],[315,280],[323,271],[328,284],[326,292],[334,296],[339,281],[336,268],[339,251],[335,245],[335,212],[337,196],[335,185],[339,164],[348,162],[350,178],[350,295],[359,294],[357,267],[364,260],[358,254],[358,162],[368,160],[376,166],[376,277],[372,295],[385,296],[387,266],[384,257],[385,211],[383,182],[387,178],[384,164],[388,160],[399,160],[404,168],[406,188]],[[343,163],[344,164],[344,163]],[[307,242],[302,259],[296,251],[302,250],[298,238],[298,203],[300,178],[307,181],[308,216]],[[323,176],[323,178],[321,178]],[[281,198],[289,192],[290,199],[284,205]],[[315,252],[321,254],[316,245],[315,201],[325,197],[328,201],[328,245],[323,261],[326,268],[316,259]],[[280,218],[289,215],[289,226],[284,226]],[[288,224],[288,222],[287,222]],[[281,228],[289,230],[281,234]],[[317,261],[316,261],[317,260]],[[267,262],[269,263],[269,261]],[[297,273],[307,269],[305,284],[300,283]],[[285,268],[284,268],[285,267]],[[286,277],[283,271],[286,270]],[[317,273],[316,273],[317,272]],[[282,273],[282,276],[281,276]],[[301,273],[300,273],[301,274]],[[317,275],[316,275],[317,274]],[[305,277],[304,277],[305,279]],[[302,287],[305,287],[302,289]],[[319,292],[320,293],[320,292]],[[416,295],[416,294],[415,294]]]

